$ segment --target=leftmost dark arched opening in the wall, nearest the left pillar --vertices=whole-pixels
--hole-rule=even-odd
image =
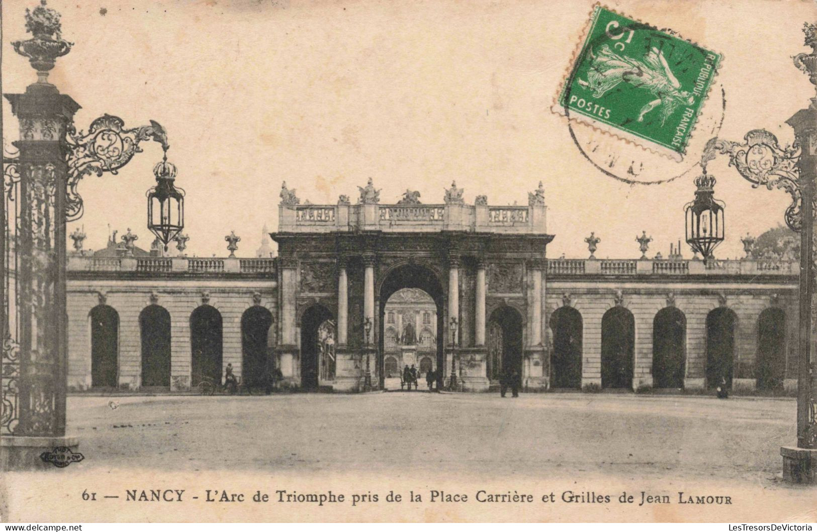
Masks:
[[[91,309],[91,386],[117,386],[119,354],[119,315],[113,307],[97,305]]]

